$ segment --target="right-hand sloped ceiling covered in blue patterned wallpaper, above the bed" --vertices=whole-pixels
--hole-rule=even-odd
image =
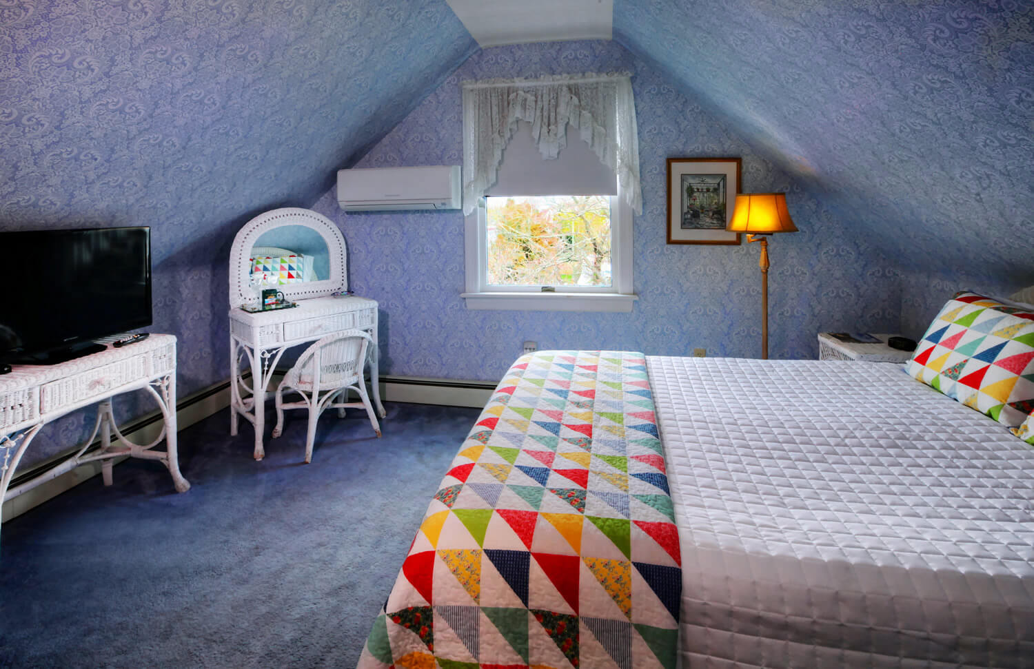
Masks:
[[[615,0],[614,39],[903,268],[1034,280],[1034,3]]]

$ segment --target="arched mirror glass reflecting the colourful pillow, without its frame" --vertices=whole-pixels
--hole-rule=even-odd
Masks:
[[[286,260],[295,255],[293,261]],[[251,284],[300,283],[330,278],[330,253],[323,236],[305,225],[280,225],[251,248]]]

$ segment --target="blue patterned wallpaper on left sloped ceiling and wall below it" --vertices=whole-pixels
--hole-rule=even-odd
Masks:
[[[240,225],[311,205],[476,49],[442,0],[0,0],[0,230],[152,225],[186,395],[229,374]]]

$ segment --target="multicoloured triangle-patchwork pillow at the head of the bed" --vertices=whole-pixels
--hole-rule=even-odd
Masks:
[[[905,371],[1018,427],[1034,412],[1034,312],[957,293],[934,318]]]

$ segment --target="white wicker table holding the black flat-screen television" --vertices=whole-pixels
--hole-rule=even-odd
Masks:
[[[3,475],[0,501],[17,497],[92,460],[101,460],[104,485],[111,485],[112,458],[122,455],[160,460],[173,476],[177,492],[190,488],[180,474],[176,452],[176,337],[152,334],[121,348],[111,345],[116,339],[98,339],[99,343],[108,344],[100,353],[56,365],[14,365],[13,371],[0,376],[0,472]],[[144,388],[157,400],[164,426],[154,442],[140,446],[128,442],[119,431],[112,414],[112,398]],[[7,489],[19,461],[43,425],[98,402],[93,434],[73,457]],[[86,453],[98,430],[100,450]],[[113,444],[112,434],[121,444]],[[162,438],[165,451],[152,450]]]

